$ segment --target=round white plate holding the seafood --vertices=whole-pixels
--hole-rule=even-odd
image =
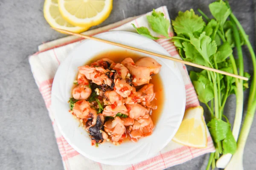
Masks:
[[[132,47],[170,56],[157,42],[125,31],[111,31],[98,34],[95,37]],[[162,65],[160,77],[163,81],[165,100],[163,113],[155,125],[151,136],[140,139],[137,143],[125,142],[115,146],[105,142],[99,147],[91,146],[87,132],[79,127],[79,123],[68,112],[67,101],[71,96],[73,81],[78,73],[78,67],[103,51],[124,50],[114,45],[93,40],[84,40],[65,59],[55,74],[52,85],[52,110],[55,113],[57,125],[67,142],[87,158],[103,164],[125,165],[134,164],[148,159],[165,147],[177,132],[185,111],[185,86],[180,71],[174,62],[147,54]]]

